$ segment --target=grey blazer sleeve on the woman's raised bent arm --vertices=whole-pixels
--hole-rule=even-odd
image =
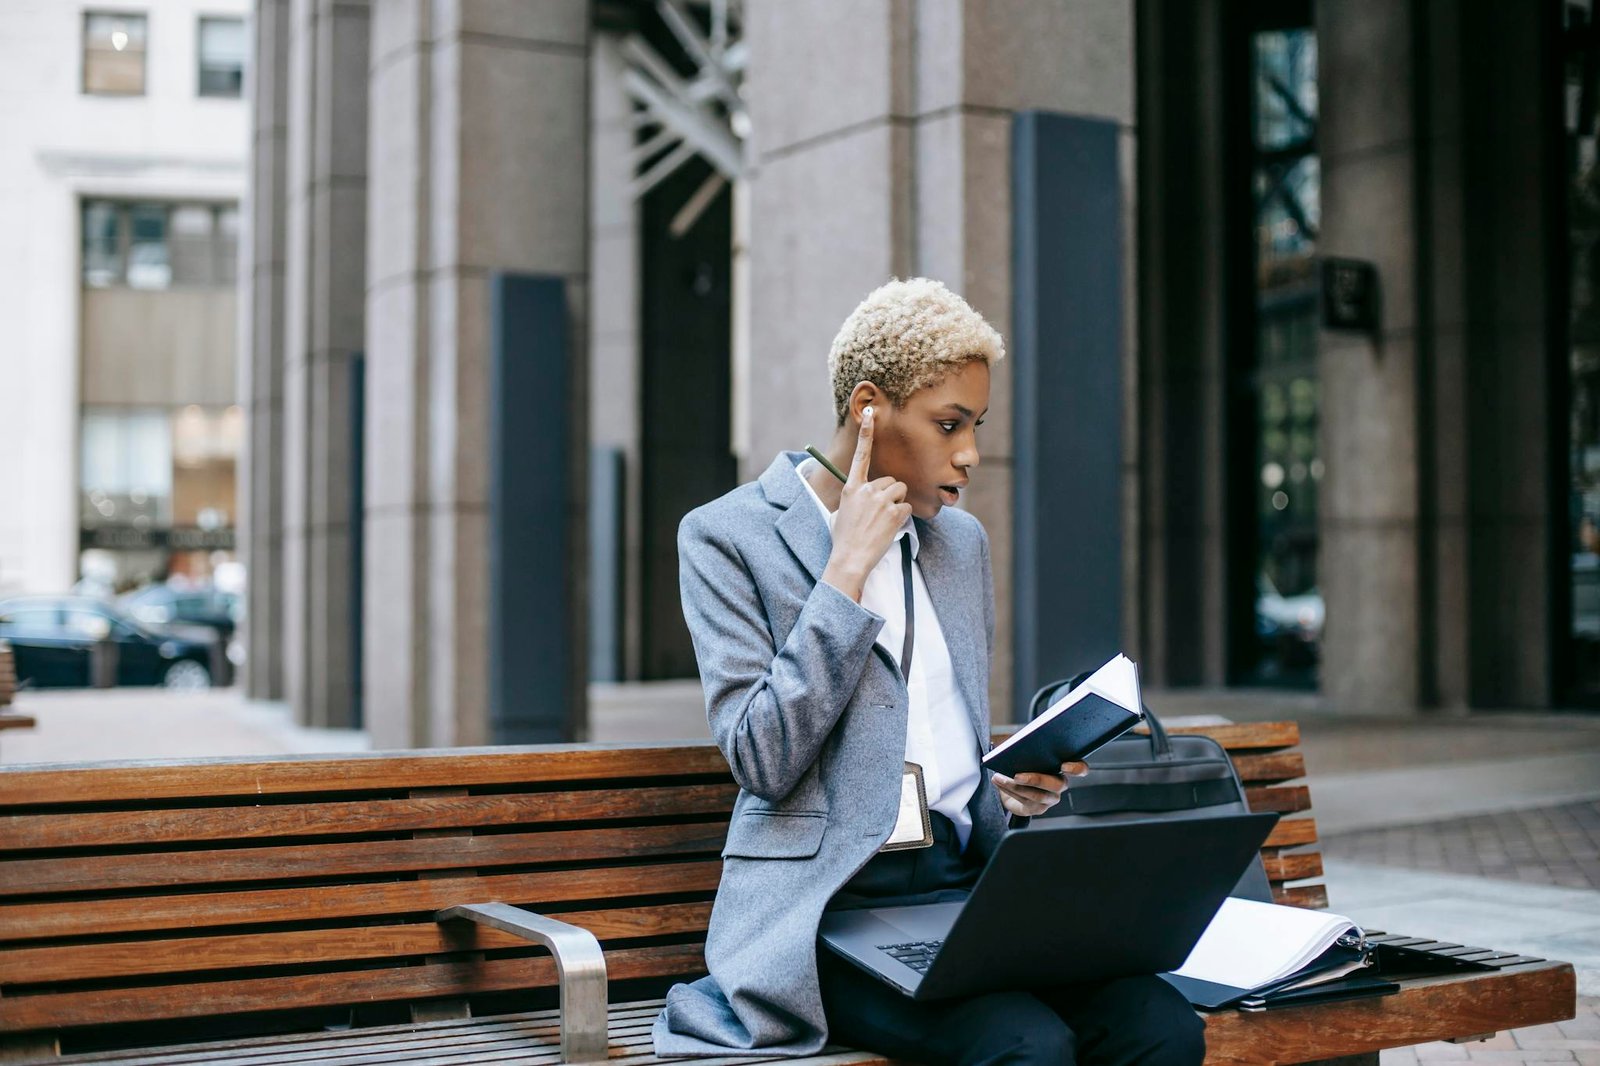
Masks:
[[[744,557],[701,512],[678,527],[678,584],[712,738],[741,787],[781,800],[850,704],[883,619],[818,581],[776,647]]]

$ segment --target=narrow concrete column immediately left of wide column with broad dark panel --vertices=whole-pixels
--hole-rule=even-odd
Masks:
[[[290,16],[283,360],[283,671],[298,720],[347,727],[352,685],[350,357],[365,347],[365,0]]]

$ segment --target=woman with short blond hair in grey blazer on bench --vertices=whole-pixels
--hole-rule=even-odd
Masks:
[[[658,1055],[810,1055],[832,1040],[922,1063],[1203,1058],[1194,1012],[1157,978],[918,1004],[819,957],[824,909],[965,896],[1006,812],[1043,813],[1066,776],[1086,771],[1011,779],[979,762],[989,539],[950,504],[979,463],[989,367],[1003,355],[1000,335],[944,285],[878,288],[827,360],[827,456],[845,483],[782,453],[683,519],[683,613],[741,792],[706,938],[710,976],[670,991]],[[922,768],[933,844],[883,850],[906,763]]]

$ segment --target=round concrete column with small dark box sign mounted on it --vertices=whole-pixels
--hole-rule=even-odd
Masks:
[[[1405,711],[1419,664],[1418,218],[1413,8],[1318,3],[1318,253],[1376,264],[1376,336],[1323,331],[1322,683],[1344,712]]]

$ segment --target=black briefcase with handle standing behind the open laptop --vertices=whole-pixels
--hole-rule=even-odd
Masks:
[[[1029,704],[1032,720],[1088,674],[1051,682]],[[1227,751],[1210,736],[1168,736],[1162,720],[1144,707],[1150,735],[1125,733],[1091,754],[1090,773],[1072,778],[1061,802],[1040,818],[1083,824],[1152,818],[1202,818],[1229,812],[1248,813],[1245,786]],[[1272,903],[1272,882],[1261,856],[1250,864],[1229,895]]]

